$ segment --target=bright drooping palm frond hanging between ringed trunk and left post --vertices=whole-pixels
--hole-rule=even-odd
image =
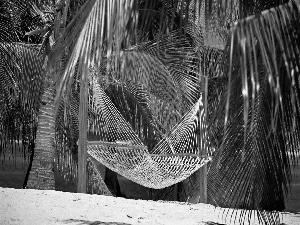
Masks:
[[[53,54],[49,56],[53,70],[58,71],[55,80],[59,84],[56,96],[56,112],[62,125],[58,129],[58,144],[62,145],[60,165],[70,168],[71,177],[76,176],[76,141],[78,139],[78,102],[70,100],[78,96],[79,81],[89,76],[91,68],[100,68],[102,49],[105,48],[107,62],[110,63],[112,46],[126,42],[126,35],[122,32],[130,18],[119,18],[132,7],[131,1],[95,1],[89,0],[81,7],[76,16],[69,22],[63,35],[54,47]],[[109,12],[109,13],[107,13]],[[123,22],[123,23],[122,23]],[[106,25],[104,25],[106,24]],[[122,29],[119,29],[123,27]],[[130,32],[129,32],[130,33]],[[123,38],[122,38],[123,37]],[[110,40],[110,42],[108,42]],[[63,63],[58,55],[63,55]],[[110,64],[108,64],[110,65]],[[63,68],[61,68],[63,66]],[[109,71],[109,66],[107,66]],[[75,98],[76,99],[76,98]],[[79,98],[78,98],[79,99]],[[70,104],[71,103],[71,104]],[[63,105],[61,105],[63,104]],[[67,127],[65,124],[70,123]],[[75,169],[73,169],[75,167]]]

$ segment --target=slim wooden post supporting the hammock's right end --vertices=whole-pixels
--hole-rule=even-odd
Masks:
[[[202,92],[202,101],[204,113],[199,114],[200,120],[200,154],[207,156],[207,93],[208,77],[201,76],[200,91]],[[200,202],[207,203],[207,164],[200,168]]]

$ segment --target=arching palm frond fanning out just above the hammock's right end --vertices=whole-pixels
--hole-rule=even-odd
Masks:
[[[124,51],[125,54],[127,52],[128,51]],[[172,87],[172,85],[168,87],[168,83],[164,81],[162,87],[168,88],[169,91],[174,88],[176,89],[176,92],[178,91],[180,94],[179,97],[183,101],[182,108],[188,109],[196,102],[197,97],[199,97],[199,67],[197,65],[198,58],[194,48],[192,47],[191,41],[181,35],[180,31],[177,30],[168,35],[162,35],[159,39],[154,41],[140,43],[139,45],[130,49],[129,52],[131,52],[131,55],[128,55],[125,61],[127,64],[124,63],[124,68],[126,68],[129,75],[139,73],[139,70],[142,70],[145,71],[144,73],[146,74],[150,73],[153,79],[155,79],[155,82],[157,82],[158,79],[162,79],[162,76],[157,72],[151,72],[151,70],[154,70],[155,67],[162,67],[159,73],[166,71],[166,75],[163,77],[169,76],[168,79],[171,79],[171,82],[173,80],[174,85],[174,87]],[[136,57],[138,57],[138,55],[144,55],[145,57],[149,57],[149,60],[151,60],[151,57],[153,57],[158,61],[157,63],[151,63],[149,65],[147,58],[140,61],[135,60],[135,54],[137,54]],[[142,57],[140,58],[142,59]],[[135,63],[138,63],[138,66],[135,66]],[[149,65],[148,68],[147,65]],[[154,86],[153,89],[162,92],[162,87]],[[162,93],[164,92],[165,91]],[[154,93],[154,95],[157,94]],[[174,97],[174,94],[171,94],[170,97],[172,97],[172,95]]]

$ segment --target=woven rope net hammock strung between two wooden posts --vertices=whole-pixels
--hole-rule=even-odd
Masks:
[[[186,179],[211,159],[210,152],[201,155],[198,147],[199,128],[203,127],[199,114],[202,118],[204,112],[201,98],[151,154],[101,88],[97,88],[93,102],[99,120],[89,126],[98,127],[104,139],[115,142],[89,141],[88,153],[129,180],[149,188],[165,188]]]

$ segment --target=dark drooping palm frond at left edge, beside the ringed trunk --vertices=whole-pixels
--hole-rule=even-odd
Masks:
[[[35,45],[13,43],[9,48],[12,53],[0,61],[1,158],[14,153],[11,160],[20,157],[26,164],[43,87],[42,59]],[[14,145],[5,148],[8,143]]]

